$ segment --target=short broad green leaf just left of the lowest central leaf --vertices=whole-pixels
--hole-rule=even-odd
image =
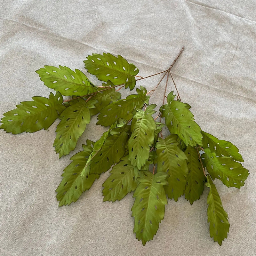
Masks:
[[[136,178],[139,177],[138,168],[133,167],[128,160],[128,155],[121,159],[121,162],[113,166],[111,175],[103,183],[103,202],[121,200],[129,192],[134,191],[138,186]]]

